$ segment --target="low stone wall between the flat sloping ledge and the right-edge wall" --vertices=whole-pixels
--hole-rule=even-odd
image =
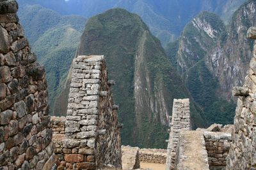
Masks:
[[[231,144],[231,134],[225,132],[204,132],[204,139],[210,169],[225,169]]]

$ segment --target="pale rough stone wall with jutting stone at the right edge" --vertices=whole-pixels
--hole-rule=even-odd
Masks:
[[[256,39],[256,27],[248,30],[248,38]],[[227,169],[256,169],[256,45],[243,87],[232,90],[238,96],[235,129],[227,157]]]

